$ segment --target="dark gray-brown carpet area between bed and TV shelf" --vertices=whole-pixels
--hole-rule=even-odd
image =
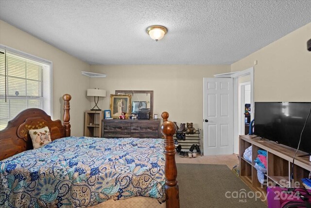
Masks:
[[[181,208],[267,207],[226,165],[177,164],[177,171]],[[239,198],[241,189],[250,197]]]

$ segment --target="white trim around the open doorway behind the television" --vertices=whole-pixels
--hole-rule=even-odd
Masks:
[[[254,119],[254,67],[250,67],[243,71],[229,72],[225,74],[214,75],[215,78],[228,77],[233,78],[233,153],[239,153],[239,78],[250,75],[251,81],[251,120]]]

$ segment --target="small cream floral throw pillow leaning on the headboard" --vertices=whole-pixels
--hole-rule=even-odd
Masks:
[[[33,141],[34,149],[42,147],[51,142],[51,135],[48,127],[29,130],[29,134],[31,140]]]

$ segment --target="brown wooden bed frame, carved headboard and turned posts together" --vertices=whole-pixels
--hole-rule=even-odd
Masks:
[[[26,109],[8,122],[7,127],[0,131],[0,160],[11,157],[17,153],[32,150],[33,145],[28,133],[31,129],[49,127],[51,139],[55,140],[70,136],[70,104],[71,96],[63,95],[64,115],[63,123],[60,120],[52,121],[51,116],[40,109]],[[161,132],[164,135],[165,153],[165,195],[167,208],[179,208],[179,189],[176,180],[177,168],[175,162],[175,145],[173,134],[176,126],[168,121],[169,113],[162,113],[163,124]]]

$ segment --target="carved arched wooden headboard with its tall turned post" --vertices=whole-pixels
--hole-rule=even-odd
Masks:
[[[0,131],[0,160],[33,149],[28,133],[31,129],[49,127],[52,141],[70,136],[70,99],[71,96],[69,94],[63,95],[63,124],[60,120],[52,121],[50,115],[36,108],[26,109],[10,120],[6,128]]]

